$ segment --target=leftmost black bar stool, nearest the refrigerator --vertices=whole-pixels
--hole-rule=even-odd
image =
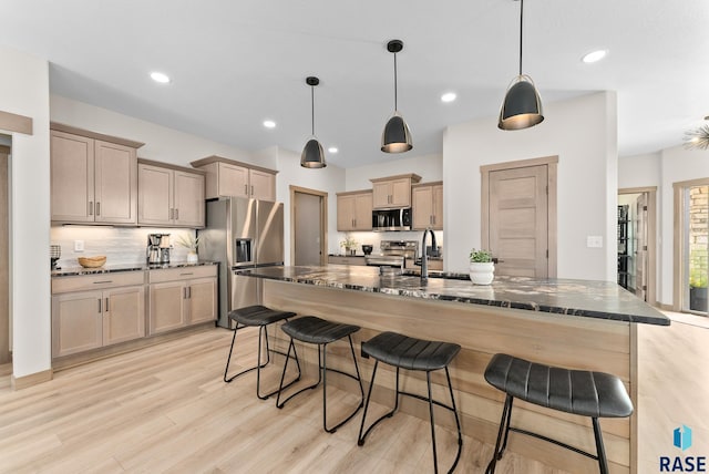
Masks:
[[[243,375],[251,370],[256,370],[256,396],[261,400],[268,399],[274,393],[278,392],[278,390],[274,390],[270,393],[261,395],[260,387],[261,387],[261,369],[266,367],[270,362],[270,348],[268,347],[268,329],[266,328],[268,324],[273,324],[278,321],[288,321],[289,318],[296,316],[295,312],[290,311],[278,311],[270,308],[266,308],[265,306],[255,305],[247,306],[245,308],[235,309],[229,311],[229,319],[235,322],[234,326],[234,337],[232,338],[232,347],[229,348],[229,356],[226,359],[226,367],[224,368],[224,381],[230,383],[234,379],[239,375]],[[256,365],[245,369],[239,373],[228,377],[229,372],[229,362],[232,361],[232,352],[234,351],[234,342],[236,341],[236,332],[239,329],[244,329],[246,327],[258,327],[258,360]],[[266,362],[261,363],[261,341],[266,339]],[[281,356],[286,356],[282,352],[274,350],[274,352],[280,353]],[[288,356],[289,357],[289,356]],[[296,364],[298,365],[298,377],[288,383],[289,387],[300,380],[300,362],[298,362],[298,354],[295,353]],[[286,361],[287,362],[287,361]]]

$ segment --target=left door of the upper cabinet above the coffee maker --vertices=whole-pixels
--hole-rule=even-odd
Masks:
[[[167,226],[173,221],[173,171],[138,165],[138,224]]]

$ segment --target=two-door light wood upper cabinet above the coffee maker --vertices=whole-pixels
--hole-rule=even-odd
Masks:
[[[137,167],[140,225],[204,227],[203,172],[148,159]]]

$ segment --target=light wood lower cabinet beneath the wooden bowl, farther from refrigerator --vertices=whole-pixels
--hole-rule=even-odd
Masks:
[[[144,336],[144,286],[52,297],[52,357],[69,356]]]

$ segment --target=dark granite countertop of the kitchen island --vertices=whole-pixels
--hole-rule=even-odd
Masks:
[[[421,280],[414,271],[380,276],[374,267],[265,267],[237,270],[239,275],[410,298],[458,301],[571,315],[585,318],[669,326],[659,310],[610,281],[500,277],[490,286],[473,285],[466,275],[430,272]],[[445,277],[445,278],[443,278]]]

